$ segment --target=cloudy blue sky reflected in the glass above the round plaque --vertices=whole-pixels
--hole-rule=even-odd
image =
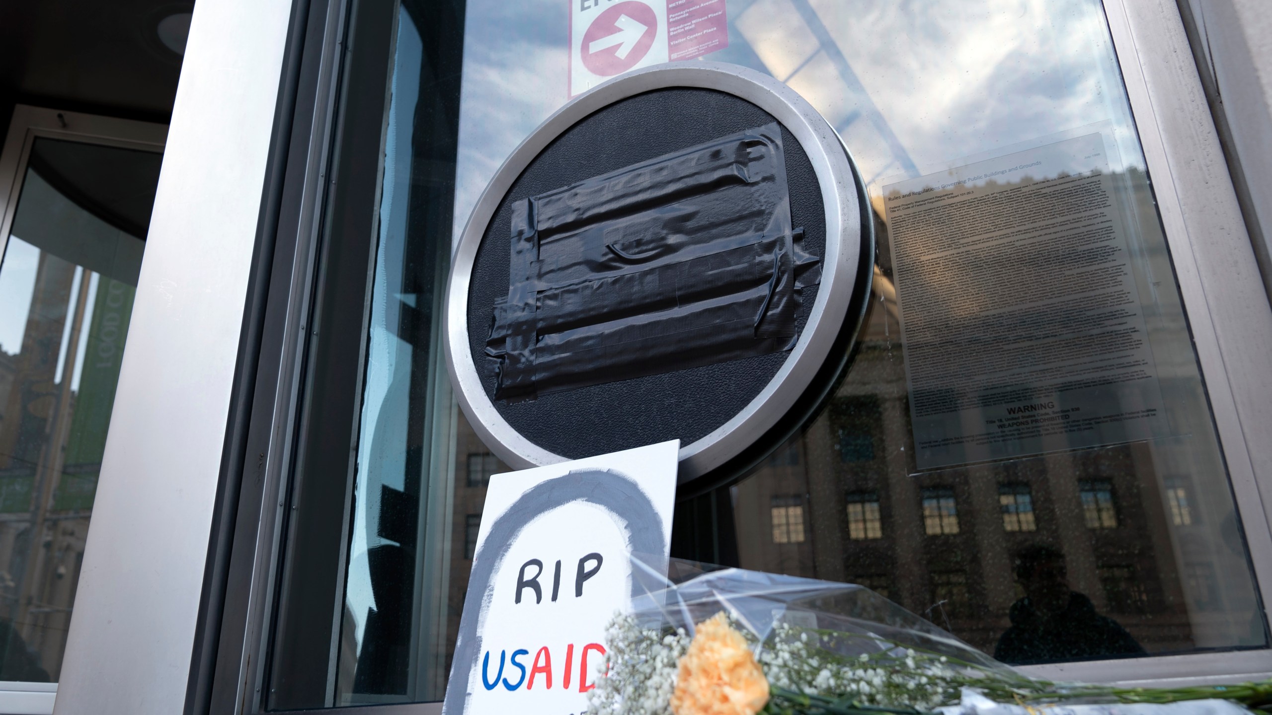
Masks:
[[[504,159],[567,101],[569,1],[468,3],[455,239]],[[787,83],[871,184],[1104,121],[1142,165],[1098,0],[729,0],[726,15],[729,47],[702,59]]]

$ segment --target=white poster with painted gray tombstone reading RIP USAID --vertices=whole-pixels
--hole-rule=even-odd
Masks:
[[[605,625],[649,585],[632,553],[665,565],[679,448],[490,478],[445,715],[586,710]]]

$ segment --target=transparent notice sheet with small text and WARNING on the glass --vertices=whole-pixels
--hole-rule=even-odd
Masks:
[[[1164,429],[1099,134],[885,186],[920,469]]]

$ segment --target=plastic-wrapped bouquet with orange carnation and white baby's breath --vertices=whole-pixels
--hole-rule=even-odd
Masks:
[[[589,715],[1231,715],[1272,705],[1272,681],[1039,681],[864,587],[663,564],[633,561],[635,583],[663,588],[611,622]]]

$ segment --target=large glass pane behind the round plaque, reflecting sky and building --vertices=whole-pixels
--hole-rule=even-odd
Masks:
[[[345,178],[309,346],[309,431],[289,497],[271,707],[441,697],[468,534],[488,475],[504,467],[449,392],[440,290],[452,240],[494,172],[570,98],[560,0],[359,0],[352,13],[357,50],[336,162]],[[827,118],[866,182],[879,244],[865,323],[834,394],[756,469],[683,503],[674,552],[859,579],[1014,663],[1264,646],[1100,3],[728,0],[725,17],[728,43],[705,59],[767,73]],[[990,228],[990,219],[1002,230],[1015,221],[1010,230],[1040,235],[1048,221],[1085,216],[1088,205],[1040,193],[1033,212],[1015,211],[1002,193],[1061,186],[1047,182],[1071,178],[1067,169],[967,178],[997,214],[978,210],[986,221],[976,221],[950,211],[923,234],[962,242],[958,260],[889,214],[887,197],[902,182],[967,174],[1021,151],[1070,156],[1079,145],[1090,149],[1074,159],[1086,183],[1065,191],[1095,192],[1091,210],[1116,214],[1119,228],[1116,238],[1093,229],[1077,252],[1060,238],[1004,243]],[[375,230],[364,235],[368,225]],[[1047,262],[1068,256],[1080,260]],[[1007,267],[1021,280],[1001,280]],[[1114,282],[1116,295],[1096,290]],[[349,308],[368,296],[365,317]],[[1084,332],[1079,318],[1093,316],[1095,298],[1112,302],[1102,319],[1124,310],[1136,330]],[[958,319],[959,331],[915,333],[929,299],[926,317],[943,318],[930,327]],[[1142,389],[1075,382],[1077,365],[1107,358],[1100,346],[1114,338],[1132,346],[1144,377],[1118,375]],[[1079,383],[1094,392],[1070,407]],[[354,385],[361,393],[345,397]],[[948,405],[963,406],[959,415],[1000,408],[993,430],[1009,431],[977,458],[972,448],[943,453],[986,424],[931,419]],[[1093,405],[1152,426],[1015,436],[1039,411],[1062,422]],[[341,457],[350,445],[352,464]],[[1189,529],[1187,550],[1179,528]],[[1066,626],[1075,618],[1080,626]],[[1066,627],[1080,646],[1056,648]]]

